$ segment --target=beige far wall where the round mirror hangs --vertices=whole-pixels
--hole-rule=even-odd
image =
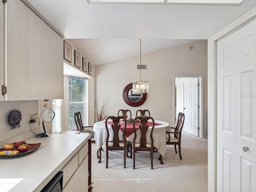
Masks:
[[[193,50],[188,47],[193,46]],[[142,40],[143,53],[143,40]],[[163,120],[173,126],[174,111],[174,75],[203,75],[204,77],[204,114],[207,114],[207,40],[142,54],[142,64],[148,70],[142,70],[142,80],[148,80],[150,92],[144,104],[139,107],[128,106],[122,97],[124,87],[140,78],[140,56],[96,66],[95,95],[98,106],[103,97],[108,96],[109,115],[117,116],[119,109],[130,109],[132,117],[136,110],[148,109],[156,120]],[[207,137],[207,116],[204,116],[204,136]]]

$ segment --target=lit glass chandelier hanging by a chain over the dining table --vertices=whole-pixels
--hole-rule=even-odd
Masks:
[[[140,39],[140,80],[132,82],[132,92],[133,92],[133,94],[141,94],[141,93],[149,92],[148,81],[141,80],[141,39]]]

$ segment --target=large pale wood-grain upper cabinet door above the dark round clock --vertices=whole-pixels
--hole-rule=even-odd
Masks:
[[[5,100],[62,99],[63,38],[20,0],[5,3],[4,22]]]

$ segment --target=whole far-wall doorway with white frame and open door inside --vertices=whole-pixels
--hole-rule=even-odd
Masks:
[[[184,131],[203,137],[202,76],[174,76],[174,124],[179,112],[185,114]]]

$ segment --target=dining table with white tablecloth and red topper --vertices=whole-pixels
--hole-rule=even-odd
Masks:
[[[107,138],[107,130],[106,130],[106,126],[105,126],[105,120],[103,121],[99,121],[94,123],[93,125],[93,131],[94,131],[94,139],[95,139],[95,150],[101,150],[102,145],[106,144],[106,138]],[[157,148],[158,152],[160,153],[160,155],[163,157],[164,154],[166,153],[166,131],[171,131],[170,129],[170,125],[168,124],[168,122],[165,121],[161,121],[161,120],[154,120],[155,122],[155,126],[154,126],[154,130],[153,130],[153,140],[154,140],[154,148]],[[108,121],[107,125],[108,125],[108,130],[109,130],[109,140],[112,140],[114,137],[114,132],[111,128],[111,124],[112,124],[112,120]],[[122,122],[120,122],[120,130],[118,133],[119,139],[123,140],[123,127],[124,124],[122,124]],[[140,130],[138,129],[139,124],[135,124],[135,128],[136,128],[136,141],[135,142],[140,142]],[[152,121],[149,120],[148,122],[148,131],[146,133],[146,139],[150,142],[150,131],[152,129]],[[125,132],[125,136],[126,136],[126,141],[128,142],[133,142],[133,138],[134,138],[134,129],[133,129],[133,124],[131,122],[127,122],[126,124],[126,132]],[[99,161],[100,162],[100,161]],[[162,162],[162,160],[161,160]]]

